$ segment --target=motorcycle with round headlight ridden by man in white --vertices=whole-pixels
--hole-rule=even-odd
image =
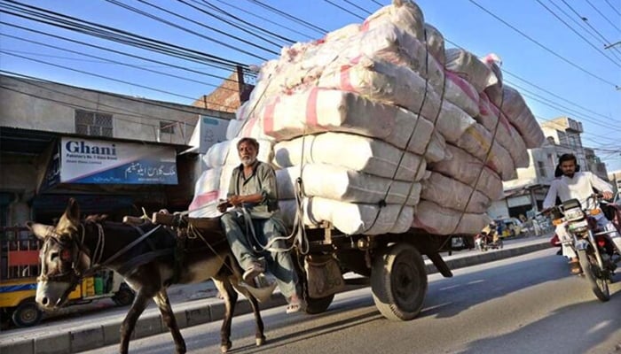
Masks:
[[[576,251],[582,273],[589,281],[593,294],[605,302],[610,299],[609,284],[621,255],[608,236],[614,231],[601,230],[597,225],[595,217],[601,213],[597,206],[602,202],[601,195],[589,196],[587,206],[583,208],[578,199],[570,199],[546,212],[550,213],[555,226],[566,223],[570,240],[562,243],[569,244]]]

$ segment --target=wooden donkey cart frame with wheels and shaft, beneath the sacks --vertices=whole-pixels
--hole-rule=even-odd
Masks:
[[[152,222],[203,234],[213,230],[216,220],[153,213]],[[429,235],[419,229],[404,234],[344,235],[324,222],[318,227],[300,229],[292,249],[307,313],[325,312],[334,294],[345,288],[342,274],[353,272],[370,280],[373,301],[384,317],[410,320],[421,312],[427,293],[422,255],[444,277],[452,277],[440,252],[463,250],[472,243],[468,236]]]

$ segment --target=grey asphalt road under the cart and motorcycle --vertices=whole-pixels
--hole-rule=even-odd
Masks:
[[[373,305],[371,290],[335,297],[328,312],[263,311],[268,342],[255,347],[252,317],[233,320],[233,353],[618,353],[621,276],[612,299],[595,299],[586,281],[569,274],[554,249],[429,276],[418,319],[392,322]],[[185,328],[189,353],[219,352],[219,322]],[[116,352],[109,346],[86,353]],[[130,343],[132,353],[171,353],[169,334]]]

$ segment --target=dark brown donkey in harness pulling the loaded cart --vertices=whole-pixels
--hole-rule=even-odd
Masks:
[[[224,297],[225,313],[220,330],[222,352],[232,347],[231,322],[238,299],[235,289],[248,297],[252,306],[256,345],[265,342],[257,298],[240,286],[242,270],[219,227],[199,237],[187,237],[183,261],[178,259],[179,241],[171,230],[150,223],[137,227],[97,217],[80,221],[80,209],[73,198],[56,227],[32,222],[28,222],[28,227],[43,240],[42,270],[35,298],[43,310],[56,310],[65,304],[68,294],[84,277],[103,267],[120,273],[136,291],[134,303],[122,322],[119,349],[122,354],[129,350],[131,334],[149,298],[153,298],[160,309],[177,353],[185,353],[185,340],[166,289],[173,283],[186,284],[209,278]]]

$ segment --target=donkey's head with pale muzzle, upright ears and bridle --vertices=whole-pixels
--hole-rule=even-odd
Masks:
[[[67,302],[67,296],[82,281],[89,266],[78,234],[84,230],[80,225],[80,208],[71,198],[56,227],[32,222],[27,225],[43,241],[35,300],[43,309],[55,310]]]

